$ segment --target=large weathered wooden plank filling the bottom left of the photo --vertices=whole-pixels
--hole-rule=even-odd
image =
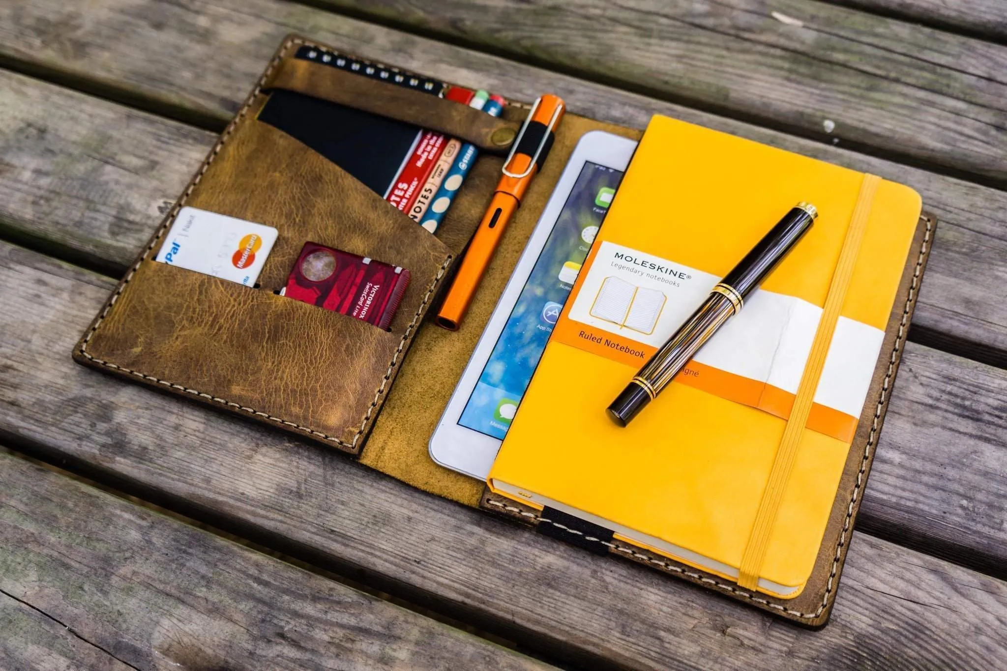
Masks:
[[[137,669],[546,668],[6,454],[0,599],[63,630],[46,649],[51,627],[22,626],[0,666],[5,645],[54,656],[76,638]],[[23,609],[0,601],[0,622]]]

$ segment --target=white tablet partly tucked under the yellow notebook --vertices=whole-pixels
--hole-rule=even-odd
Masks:
[[[441,466],[486,479],[635,149],[602,131],[577,143],[430,439]]]

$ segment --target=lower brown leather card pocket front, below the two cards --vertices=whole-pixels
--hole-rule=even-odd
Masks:
[[[93,357],[340,449],[361,444],[403,337],[352,317],[144,261]]]

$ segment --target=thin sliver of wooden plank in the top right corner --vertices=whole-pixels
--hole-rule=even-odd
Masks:
[[[1007,4],[1001,0],[832,0],[932,28],[1007,42]]]

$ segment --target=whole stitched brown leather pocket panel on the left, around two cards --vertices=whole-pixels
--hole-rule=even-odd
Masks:
[[[264,98],[225,133],[74,357],[358,454],[452,256],[341,168],[255,121]],[[260,288],[153,261],[183,205],[277,229]],[[307,241],[410,271],[389,331],[274,293]]]

